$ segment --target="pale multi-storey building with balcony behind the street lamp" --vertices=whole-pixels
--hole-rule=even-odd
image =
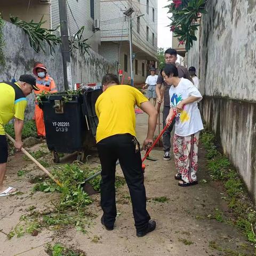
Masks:
[[[125,82],[130,73],[129,18],[132,13],[132,52],[134,83],[144,83],[149,68],[157,61],[157,0],[100,0],[101,45],[99,54],[118,61]]]

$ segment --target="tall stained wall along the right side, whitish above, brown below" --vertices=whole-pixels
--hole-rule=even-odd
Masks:
[[[256,5],[254,0],[207,1],[197,50],[205,89],[203,115],[219,136],[256,203]]]

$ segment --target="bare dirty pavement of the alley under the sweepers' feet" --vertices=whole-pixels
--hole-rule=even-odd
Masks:
[[[142,143],[147,131],[147,116],[137,115],[137,137]],[[43,145],[36,145],[36,150]],[[97,151],[90,151],[89,164],[98,161]],[[175,166],[171,161],[163,161],[162,148],[156,148],[151,154],[156,162],[146,161],[145,186],[147,191],[147,209],[157,227],[152,233],[138,238],[132,216],[129,191],[124,185],[117,191],[118,218],[113,231],[107,231],[100,223],[101,208],[99,194],[93,195],[89,209],[98,217],[92,219],[87,234],[74,228],[65,232],[43,229],[37,236],[28,234],[8,240],[6,234],[17,225],[22,214],[29,206],[47,209],[51,198],[57,193],[36,192],[31,194],[34,184],[29,176],[42,174],[35,164],[23,159],[21,153],[9,158],[5,184],[19,188],[23,193],[18,196],[0,198],[0,255],[1,256],[44,256],[45,244],[60,242],[67,247],[80,249],[87,256],[204,256],[204,255],[253,255],[253,246],[246,242],[240,231],[225,222],[212,218],[217,211],[230,216],[222,184],[211,181],[206,172],[205,151],[199,149],[199,184],[193,187],[178,187],[174,180]],[[72,162],[75,156],[66,161]],[[51,162],[51,164],[53,164]],[[28,175],[18,177],[17,171],[27,170]],[[122,171],[118,167],[118,175]],[[166,202],[157,202],[155,198],[167,197]],[[217,210],[216,210],[217,209]],[[219,209],[219,210],[218,210]],[[93,238],[97,239],[93,239]],[[241,253],[241,254],[239,254]],[[242,254],[243,253],[243,254]]]

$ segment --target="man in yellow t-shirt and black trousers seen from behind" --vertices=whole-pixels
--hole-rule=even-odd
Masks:
[[[118,77],[107,74],[102,79],[103,93],[95,104],[99,118],[96,141],[101,163],[101,223],[113,230],[116,219],[115,171],[119,159],[130,190],[137,236],[145,236],[156,227],[146,210],[146,191],[142,173],[140,145],[135,134],[137,105],[149,115],[148,134],[143,148],[153,143],[157,111],[148,99],[129,85],[119,85]]]

